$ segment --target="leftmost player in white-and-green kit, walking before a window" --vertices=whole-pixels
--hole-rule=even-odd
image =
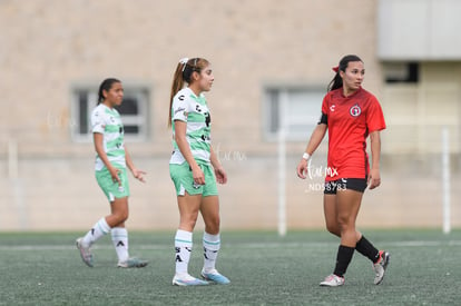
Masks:
[[[99,219],[85,237],[77,239],[81,259],[89,267],[94,266],[91,245],[109,231],[117,251],[118,267],[147,266],[146,260],[128,256],[128,231],[125,228],[125,221],[128,219],[129,187],[126,167],[128,166],[133,176],[143,182],[146,172],[135,167],[124,144],[124,126],[120,115],[115,109],[116,106],[121,105],[122,98],[121,82],[117,79],[106,79],[99,87],[98,106],[91,113],[97,154],[96,179],[109,199],[111,214]]]

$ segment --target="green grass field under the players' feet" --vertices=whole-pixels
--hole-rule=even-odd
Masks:
[[[115,267],[109,237],[86,267],[73,233],[0,234],[0,305],[454,305],[461,298],[461,231],[364,230],[391,251],[384,282],[373,285],[371,264],[355,253],[339,288],[320,287],[332,272],[337,239],[325,231],[224,231],[218,268],[227,286],[176,287],[171,233],[131,233],[130,255],[141,269]],[[202,233],[189,266],[198,276]]]

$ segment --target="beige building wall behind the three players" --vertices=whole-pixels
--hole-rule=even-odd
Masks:
[[[430,179],[415,178],[410,171],[419,168],[396,156],[418,148],[425,160],[433,146],[422,139],[395,151],[409,139],[394,130],[394,113],[406,118],[408,106],[398,101],[414,90],[402,93],[383,85],[375,20],[376,1],[370,0],[0,1],[0,230],[82,229],[108,213],[94,179],[92,145],[70,136],[72,87],[97,87],[108,76],[150,89],[149,137],[127,144],[138,167],[148,171],[146,185],[131,180],[129,226],[176,227],[166,121],[173,72],[186,56],[205,57],[214,68],[215,85],[207,95],[214,146],[229,175],[228,185],[219,187],[223,227],[275,228],[277,144],[264,138],[264,88],[324,88],[333,77],[331,67],[346,53],[364,60],[365,88],[380,98],[390,124],[383,135],[383,186],[365,194],[360,224],[440,226],[438,170]],[[424,66],[426,88],[444,80],[444,73],[437,65]],[[459,92],[461,85],[453,86]],[[455,95],[448,108],[459,99]],[[459,132],[460,117],[448,108],[443,113]],[[421,126],[418,118],[409,130]],[[287,144],[287,224],[293,228],[323,226],[322,179],[302,181],[294,172],[306,140]],[[16,145],[17,170],[14,152],[8,155]],[[314,159],[316,167],[324,164],[325,151],[326,141]],[[413,211],[418,216],[408,218]],[[459,226],[461,211],[452,213]]]

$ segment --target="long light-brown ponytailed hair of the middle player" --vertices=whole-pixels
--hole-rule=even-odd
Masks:
[[[192,58],[187,61],[179,61],[176,66],[176,71],[173,77],[171,92],[169,95],[169,109],[168,109],[168,127],[171,126],[171,107],[173,98],[183,89],[184,82],[190,83],[194,72],[200,73],[209,65],[209,61],[203,58]]]

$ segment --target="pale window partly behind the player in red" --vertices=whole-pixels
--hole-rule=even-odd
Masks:
[[[318,122],[325,89],[267,88],[265,90],[265,136],[276,140],[285,125],[286,139],[305,141]]]

